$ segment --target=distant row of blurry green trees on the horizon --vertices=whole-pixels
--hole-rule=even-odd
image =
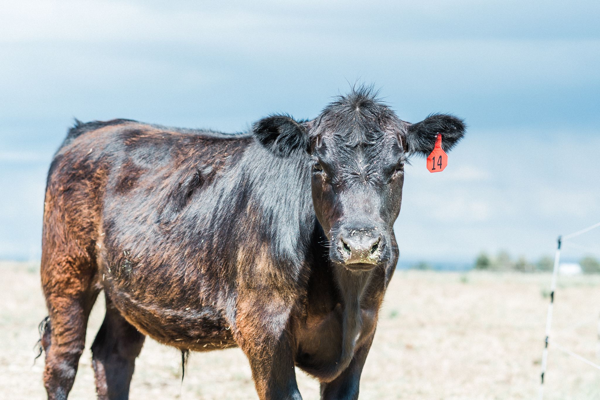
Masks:
[[[579,261],[584,273],[600,273],[600,262],[596,258],[588,255]],[[524,255],[517,260],[512,260],[508,251],[501,250],[496,257],[490,257],[485,251],[482,251],[475,259],[475,269],[489,271],[551,271],[554,268],[554,258],[549,255],[542,255],[538,262],[530,263]]]

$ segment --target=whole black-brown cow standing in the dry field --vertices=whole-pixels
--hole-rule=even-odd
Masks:
[[[246,133],[128,119],[68,131],[47,178],[41,282],[44,386],[66,399],[100,293],[99,399],[127,399],[146,336],[188,351],[240,347],[260,399],[356,399],[398,260],[404,165],[452,115],[402,121],[369,88],[317,118],[271,115]]]

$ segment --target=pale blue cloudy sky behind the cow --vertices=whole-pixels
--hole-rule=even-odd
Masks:
[[[401,260],[535,261],[600,221],[599,18],[598,1],[3,0],[0,259],[40,257],[73,118],[236,132],[362,82],[405,121],[469,127],[442,173],[407,167]],[[567,257],[600,257],[600,233],[577,240]]]

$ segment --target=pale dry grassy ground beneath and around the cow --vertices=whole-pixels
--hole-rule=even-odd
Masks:
[[[43,358],[34,365],[46,315],[38,266],[0,263],[0,399],[43,399]],[[534,399],[550,274],[397,271],[380,314],[361,399]],[[556,342],[596,358],[600,276],[560,277]],[[70,399],[95,397],[89,346],[103,318],[98,300]],[[575,329],[574,324],[584,321]],[[566,330],[565,330],[566,329]],[[178,351],[147,339],[131,384],[133,400],[256,399],[237,349],[192,353],[181,383]],[[304,399],[319,386],[301,371]],[[545,399],[600,398],[600,370],[550,348]]]

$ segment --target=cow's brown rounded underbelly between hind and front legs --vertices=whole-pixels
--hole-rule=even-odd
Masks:
[[[212,305],[167,305],[160,299],[136,298],[134,293],[115,287],[105,290],[130,324],[162,344],[193,351],[237,346],[223,313]]]

